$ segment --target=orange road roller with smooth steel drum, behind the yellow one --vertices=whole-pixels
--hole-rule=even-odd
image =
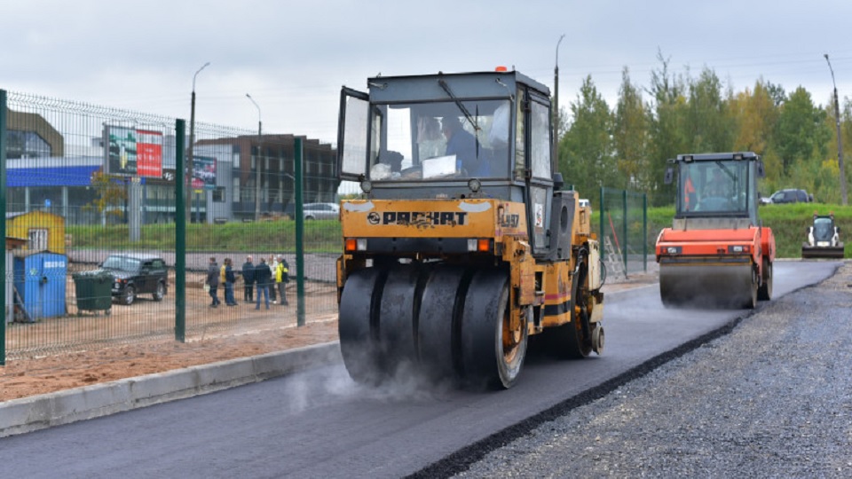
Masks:
[[[657,239],[664,305],[753,309],[772,296],[775,237],[757,215],[760,157],[751,152],[680,154],[671,228]]]

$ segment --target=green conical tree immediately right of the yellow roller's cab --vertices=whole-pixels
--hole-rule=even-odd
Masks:
[[[600,187],[620,187],[615,170],[610,133],[612,115],[592,77],[587,76],[571,103],[572,121],[559,142],[559,170],[565,183],[584,198],[599,199]]]

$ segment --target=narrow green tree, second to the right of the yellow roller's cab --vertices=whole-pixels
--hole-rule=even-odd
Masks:
[[[612,140],[619,173],[627,179],[627,187],[633,190],[648,191],[654,185],[648,168],[649,128],[642,90],[630,82],[630,74],[624,67]]]

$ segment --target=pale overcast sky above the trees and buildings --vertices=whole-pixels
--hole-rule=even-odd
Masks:
[[[342,85],[492,70],[553,87],[563,108],[591,75],[614,106],[621,70],[713,68],[734,90],[759,78],[826,104],[852,98],[849,0],[0,0],[0,89],[334,143]],[[842,101],[842,99],[841,99]]]

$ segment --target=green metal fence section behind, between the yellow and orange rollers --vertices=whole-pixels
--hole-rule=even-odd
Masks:
[[[649,238],[648,199],[644,193],[601,188],[599,238],[609,279],[627,279],[648,271],[653,254]]]

